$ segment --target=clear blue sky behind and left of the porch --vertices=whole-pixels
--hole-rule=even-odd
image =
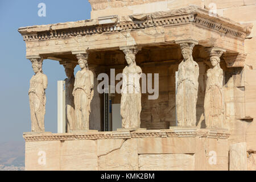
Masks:
[[[46,17],[38,16],[39,3],[46,4]],[[28,88],[34,72],[18,28],[90,19],[90,11],[86,0],[0,0],[0,142],[23,141],[22,133],[31,131]],[[56,133],[57,80],[64,80],[65,72],[53,60],[44,60],[43,72],[48,77],[44,125]]]

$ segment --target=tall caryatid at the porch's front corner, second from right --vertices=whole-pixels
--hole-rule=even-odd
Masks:
[[[193,60],[195,43],[180,43],[183,61],[178,68],[176,111],[177,126],[196,126],[196,102],[199,65]]]

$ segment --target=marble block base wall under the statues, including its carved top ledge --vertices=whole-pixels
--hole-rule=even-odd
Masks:
[[[23,135],[26,170],[228,170],[228,136],[200,129]],[[46,164],[38,163],[40,151]]]

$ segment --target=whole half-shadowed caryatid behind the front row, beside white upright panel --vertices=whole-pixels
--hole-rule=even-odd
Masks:
[[[76,64],[65,64],[65,73],[67,78],[65,78],[65,94],[66,94],[66,131],[69,133],[73,130],[73,126],[75,123],[75,103],[74,96],[72,94],[75,84],[75,76],[74,76],[74,68]]]

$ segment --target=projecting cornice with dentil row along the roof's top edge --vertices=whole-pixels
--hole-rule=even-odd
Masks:
[[[198,6],[188,6],[183,9],[171,11],[159,11],[147,16],[146,20],[132,20],[133,16],[122,16],[122,21],[108,24],[99,24],[97,19],[80,20],[77,22],[66,22],[48,24],[42,26],[31,26],[19,28],[24,41],[41,41],[48,39],[65,39],[73,36],[88,36],[102,34],[105,32],[125,32],[146,27],[168,27],[180,26],[183,24],[193,24],[195,26],[208,28],[212,31],[225,33],[237,39],[245,39],[248,28],[232,20],[212,17],[207,10]]]

